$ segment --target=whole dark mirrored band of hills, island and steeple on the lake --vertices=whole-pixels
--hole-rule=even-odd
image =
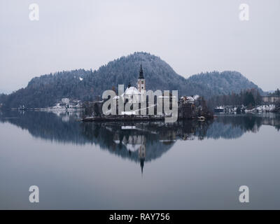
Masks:
[[[263,113],[219,116],[210,122],[184,120],[177,123],[80,123],[79,113],[2,111],[0,122],[28,130],[34,137],[58,143],[94,144],[121,158],[144,162],[160,158],[181,139],[235,139],[245,132],[258,132],[261,125],[280,130],[280,116]]]

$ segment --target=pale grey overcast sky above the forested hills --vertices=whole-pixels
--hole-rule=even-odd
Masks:
[[[39,20],[29,20],[38,3]],[[239,20],[239,5],[249,20]],[[160,56],[181,76],[240,71],[280,87],[279,0],[1,0],[0,91],[34,76],[98,69],[135,51]]]

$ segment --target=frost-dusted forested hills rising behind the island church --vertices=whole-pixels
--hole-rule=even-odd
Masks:
[[[32,108],[52,106],[64,97],[93,100],[104,90],[111,90],[113,87],[117,90],[118,84],[127,87],[131,83],[136,86],[140,64],[143,66],[147,90],[179,90],[180,95],[199,94],[211,97],[258,88],[236,71],[201,73],[186,79],[179,76],[160,57],[135,52],[109,62],[97,71],[78,69],[32,78],[27,87],[8,96],[0,96],[0,103],[7,107],[25,105]]]

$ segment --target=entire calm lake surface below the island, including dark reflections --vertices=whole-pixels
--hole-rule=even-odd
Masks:
[[[0,112],[0,209],[280,209],[279,115],[172,125],[79,116]]]

